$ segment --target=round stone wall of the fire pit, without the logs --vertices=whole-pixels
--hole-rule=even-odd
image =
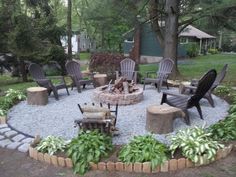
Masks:
[[[97,87],[94,90],[94,100],[101,103],[110,103],[111,105],[130,105],[143,100],[143,88],[138,87],[138,90],[132,93],[110,93],[104,86]]]

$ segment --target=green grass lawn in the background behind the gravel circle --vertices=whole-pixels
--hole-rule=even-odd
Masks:
[[[89,53],[81,53],[81,59],[89,58]],[[178,67],[184,80],[191,78],[200,78],[206,71],[211,68],[215,68],[218,72],[221,70],[224,64],[228,63],[229,68],[224,79],[224,83],[236,85],[236,54],[217,54],[199,56],[194,59],[180,60]],[[140,65],[140,73],[145,75],[146,71],[157,71],[157,64]],[[82,67],[86,69],[86,67]],[[69,78],[66,78],[67,83],[70,82]],[[12,78],[9,75],[0,75],[0,95],[8,88],[16,90],[25,90],[28,87],[36,86],[35,82],[22,83],[17,78]]]

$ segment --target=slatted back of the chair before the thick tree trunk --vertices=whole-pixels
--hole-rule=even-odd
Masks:
[[[169,58],[162,59],[159,64],[159,69],[157,71],[157,77],[167,79],[166,77],[168,77],[168,74],[171,73],[173,66],[174,63],[171,59]]]

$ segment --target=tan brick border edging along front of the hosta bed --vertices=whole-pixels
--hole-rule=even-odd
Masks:
[[[236,148],[236,146],[235,146]],[[230,144],[223,149],[219,149],[217,151],[215,160],[209,161],[207,159],[204,160],[202,165],[207,165],[211,162],[216,160],[225,158],[233,149],[233,144]],[[32,146],[29,147],[29,156],[35,160],[46,162],[47,164],[52,164],[54,166],[61,166],[61,167],[68,167],[72,168],[73,163],[70,158],[65,157],[58,157],[56,155],[49,155],[47,153],[38,152],[36,148]],[[123,162],[98,162],[95,164],[90,162],[91,170],[107,170],[107,171],[125,171],[125,172],[137,172],[137,173],[158,173],[158,172],[169,172],[169,171],[176,171],[184,168],[190,167],[198,167],[202,166],[200,164],[194,164],[190,160],[186,158],[180,159],[170,159],[163,163],[162,165],[157,166],[155,169],[151,169],[150,162],[144,163],[133,163],[133,164],[126,164]]]

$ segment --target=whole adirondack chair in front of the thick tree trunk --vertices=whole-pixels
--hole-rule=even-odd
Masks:
[[[165,83],[167,89],[169,89],[167,79],[169,75],[171,74],[172,68],[173,68],[173,61],[169,58],[162,59],[159,65],[159,70],[156,72],[157,77],[156,78],[150,78],[149,75],[154,72],[147,72],[146,78],[144,78],[143,83],[143,90],[145,90],[145,85],[147,83],[154,83],[157,91],[161,91],[162,84]]]

